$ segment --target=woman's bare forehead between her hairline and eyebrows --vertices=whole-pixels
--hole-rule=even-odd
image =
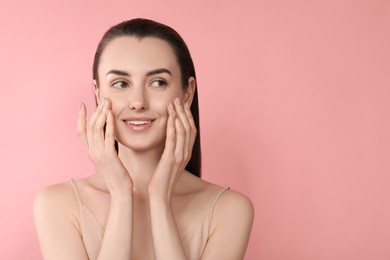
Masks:
[[[100,73],[112,69],[142,73],[156,68],[167,68],[178,73],[179,66],[168,42],[155,37],[118,37],[102,53]]]

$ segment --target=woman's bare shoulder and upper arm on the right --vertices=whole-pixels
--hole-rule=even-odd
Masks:
[[[224,189],[204,180],[190,182],[198,187],[194,190],[197,201],[215,202],[202,259],[243,259],[253,224],[254,207],[251,200],[241,192]]]

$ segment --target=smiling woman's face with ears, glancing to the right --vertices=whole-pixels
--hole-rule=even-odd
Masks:
[[[173,49],[153,37],[115,38],[103,51],[98,73],[96,97],[112,103],[115,137],[135,150],[164,145],[168,103],[176,97],[191,102],[195,88],[191,78],[183,89]]]

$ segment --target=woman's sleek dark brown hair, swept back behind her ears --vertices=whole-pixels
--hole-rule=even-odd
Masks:
[[[191,54],[188,50],[183,38],[171,27],[148,19],[132,19],[121,22],[111,27],[100,40],[97,47],[95,58],[93,61],[93,79],[96,80],[99,86],[98,68],[102,53],[108,43],[113,39],[121,36],[133,36],[138,38],[155,37],[166,41],[172,47],[181,72],[181,82],[184,89],[188,87],[188,79],[194,77],[196,82],[196,74]],[[199,104],[198,91],[195,88],[194,98],[191,105],[191,112],[194,117],[195,126],[198,131],[195,144],[192,149],[192,156],[186,166],[186,170],[193,175],[201,177],[201,149],[200,149],[200,128],[199,128]],[[118,145],[116,144],[116,149]]]

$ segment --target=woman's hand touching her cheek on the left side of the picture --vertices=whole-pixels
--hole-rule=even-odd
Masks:
[[[133,181],[115,150],[114,118],[110,101],[106,98],[101,100],[88,124],[86,116],[86,107],[81,103],[77,134],[88,151],[88,156],[94,163],[98,174],[103,176],[112,195],[132,192]]]

